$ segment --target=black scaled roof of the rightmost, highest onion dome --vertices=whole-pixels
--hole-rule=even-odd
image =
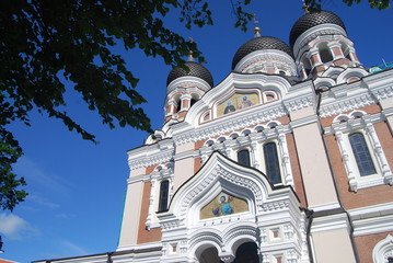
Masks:
[[[331,11],[321,11],[317,13],[305,13],[303,16],[298,19],[293,24],[291,33],[289,35],[289,44],[294,45],[294,42],[298,37],[303,34],[305,31],[321,24],[336,24],[345,30],[345,25],[340,18]]]

